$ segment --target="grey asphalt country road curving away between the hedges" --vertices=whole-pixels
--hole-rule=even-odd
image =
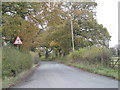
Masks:
[[[118,88],[118,81],[56,62],[41,62],[31,76],[12,88]]]

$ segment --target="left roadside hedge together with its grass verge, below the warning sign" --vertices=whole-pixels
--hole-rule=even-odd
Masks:
[[[14,47],[3,47],[2,51],[3,88],[27,75],[40,62],[35,52],[21,51]]]

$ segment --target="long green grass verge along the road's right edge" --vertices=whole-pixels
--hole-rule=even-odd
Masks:
[[[114,70],[109,67],[104,67],[104,66],[97,65],[97,64],[81,63],[81,62],[75,63],[75,62],[70,62],[70,60],[64,60],[64,59],[57,59],[55,61],[72,66],[72,67],[82,69],[84,71],[91,72],[94,74],[99,74],[99,75],[111,77],[116,80],[120,80],[118,76],[118,70]]]

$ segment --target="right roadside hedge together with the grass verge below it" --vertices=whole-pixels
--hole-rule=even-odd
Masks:
[[[118,66],[115,68],[110,66],[110,57],[111,53],[109,49],[90,47],[81,48],[75,51],[74,56],[71,52],[69,55],[58,58],[55,61],[120,80],[118,77]]]

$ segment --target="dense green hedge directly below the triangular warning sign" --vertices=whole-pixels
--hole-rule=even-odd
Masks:
[[[16,76],[18,73],[30,69],[32,66],[31,54],[15,48],[3,47],[2,76]]]

